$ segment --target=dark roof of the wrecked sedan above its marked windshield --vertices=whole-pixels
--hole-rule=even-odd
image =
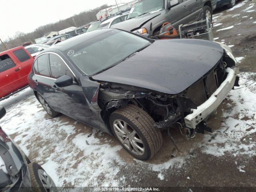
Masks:
[[[48,49],[46,51],[43,51],[43,52],[48,52],[50,50],[60,50],[60,51],[63,52],[65,50],[67,50],[68,48],[76,46],[76,45],[78,45],[82,42],[90,40],[90,39],[92,39],[96,36],[99,36],[101,34],[104,34],[104,33],[108,32],[108,31],[111,31],[111,30],[117,30],[117,29],[104,28],[104,29],[97,29],[97,30],[94,30],[94,31],[86,32],[86,33],[80,34],[78,36],[74,36],[72,38],[69,38],[65,41],[62,41],[58,44],[55,44],[50,49]]]

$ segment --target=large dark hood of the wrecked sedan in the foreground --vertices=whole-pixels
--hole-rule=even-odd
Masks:
[[[222,55],[223,48],[207,40],[156,40],[92,78],[178,94],[210,71]]]

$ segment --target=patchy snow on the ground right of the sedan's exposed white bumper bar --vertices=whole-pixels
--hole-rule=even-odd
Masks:
[[[256,143],[250,140],[256,133],[256,74],[240,74],[240,87],[236,87],[228,95],[232,101],[230,110],[223,110],[226,117],[222,127],[214,136],[204,136],[202,152],[214,156],[223,156],[226,152],[238,156],[256,154]],[[241,143],[242,141],[242,143]]]

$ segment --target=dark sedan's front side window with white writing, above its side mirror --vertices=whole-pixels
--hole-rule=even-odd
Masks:
[[[59,78],[64,75],[74,78],[69,68],[66,66],[66,64],[62,61],[62,59],[59,56],[57,56],[56,54],[49,54],[49,58],[50,69],[53,78]]]

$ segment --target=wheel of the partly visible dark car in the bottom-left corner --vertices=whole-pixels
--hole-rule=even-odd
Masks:
[[[28,164],[30,182],[34,192],[57,191],[52,178],[37,163]]]

